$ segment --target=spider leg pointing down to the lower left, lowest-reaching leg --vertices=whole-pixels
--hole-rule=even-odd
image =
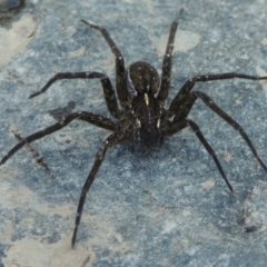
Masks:
[[[103,161],[105,155],[108,150],[108,148],[112,147],[113,145],[125,140],[126,138],[128,138],[130,135],[130,132],[126,132],[126,131],[115,131],[113,134],[111,134],[101,145],[101,147],[99,148],[97,155],[96,155],[96,159],[95,162],[92,165],[92,168],[86,179],[86,182],[82,187],[81,190],[81,195],[80,195],[80,200],[79,200],[79,205],[77,208],[77,215],[76,215],[76,226],[75,226],[75,230],[73,230],[73,236],[71,239],[71,246],[72,248],[75,247],[75,243],[76,243],[76,237],[77,237],[77,231],[78,231],[78,227],[80,225],[80,219],[81,219],[81,214],[82,214],[82,208],[86,201],[86,196],[87,192],[89,191],[95,177]]]

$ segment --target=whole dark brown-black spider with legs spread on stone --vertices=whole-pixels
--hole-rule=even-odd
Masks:
[[[105,28],[89,23],[85,20],[82,20],[82,22],[100,31],[102,37],[109,44],[112,53],[115,55],[116,92],[109,78],[103,73],[96,71],[75,73],[60,72],[52,77],[40,91],[32,93],[30,98],[46,92],[47,89],[55,81],[60,79],[97,78],[101,81],[108,110],[116,118],[116,121],[88,111],[69,113],[61,121],[31,136],[26,137],[18,145],[16,145],[0,161],[0,165],[3,165],[16,151],[18,151],[24,145],[38,140],[57,130],[60,130],[75,119],[85,120],[89,123],[112,131],[112,134],[107,137],[107,139],[99,148],[92,168],[82,187],[77,209],[76,227],[71,241],[72,247],[76,243],[77,230],[80,224],[81,212],[87,192],[90,189],[92,181],[95,180],[95,177],[103,161],[108,148],[117,145],[118,142],[121,142],[122,140],[131,136],[134,136],[135,141],[144,145],[145,147],[151,147],[161,145],[166,136],[172,136],[174,134],[182,130],[186,127],[191,128],[208,151],[208,154],[212,157],[221,177],[226,181],[230,191],[233,191],[233,187],[229,184],[215,151],[202,136],[199,127],[192,120],[187,119],[187,116],[197,99],[201,99],[214,112],[220,116],[235,130],[239,131],[239,134],[250,148],[255,158],[267,171],[267,167],[259,158],[250,139],[248,138],[241,126],[224,110],[221,110],[206,93],[200,91],[191,91],[195,83],[199,81],[224,80],[233,78],[263,80],[267,79],[267,77],[256,77],[236,72],[197,76],[188,79],[185,82],[185,85],[181,87],[181,89],[178,91],[178,93],[171,101],[170,107],[166,109],[164,106],[170,88],[172,49],[178,27],[178,19],[174,21],[170,27],[169,39],[162,62],[161,78],[159,78],[158,72],[151,65],[144,61],[134,62],[128,68],[125,68],[122,55],[115,44],[113,40],[110,38],[108,31]],[[116,93],[119,101],[117,100]],[[118,102],[120,103],[120,107]]]

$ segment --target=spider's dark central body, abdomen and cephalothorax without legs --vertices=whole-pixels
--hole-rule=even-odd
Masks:
[[[126,71],[130,103],[127,107],[132,118],[135,140],[147,147],[161,145],[160,128],[162,107],[155,96],[159,90],[159,75],[149,63],[137,61]]]

